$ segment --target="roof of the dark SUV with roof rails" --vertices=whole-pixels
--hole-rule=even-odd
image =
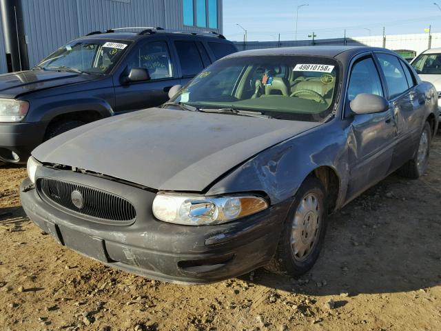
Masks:
[[[194,33],[194,34],[192,34]],[[93,34],[89,34],[83,37],[79,37],[78,39],[94,39],[94,40],[125,40],[125,41],[137,41],[139,39],[154,37],[158,35],[166,35],[166,36],[174,36],[174,37],[181,37],[184,38],[196,38],[196,39],[205,39],[210,41],[220,41],[220,42],[227,42],[231,43],[231,41],[228,41],[227,39],[223,39],[222,37],[219,37],[217,34],[198,34],[197,32],[153,32],[153,33],[147,33],[147,34],[139,34],[138,32],[97,32]]]

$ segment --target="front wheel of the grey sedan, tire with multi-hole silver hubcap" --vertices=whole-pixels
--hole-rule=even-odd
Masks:
[[[265,268],[292,277],[305,274],[312,268],[320,254],[327,228],[325,197],[321,181],[316,177],[307,177],[289,209],[276,254]],[[295,227],[299,223],[300,226]],[[314,232],[314,238],[311,232]]]

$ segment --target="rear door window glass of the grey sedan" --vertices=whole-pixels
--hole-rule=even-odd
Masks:
[[[406,74],[404,74],[400,60],[398,60],[398,57],[390,54],[378,53],[376,55],[384,73],[384,78],[386,79],[389,98],[393,99],[398,97],[402,92],[409,89]]]

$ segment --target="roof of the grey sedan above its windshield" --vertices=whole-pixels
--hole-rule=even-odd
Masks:
[[[368,47],[368,46],[298,46],[287,48],[265,48],[258,50],[245,50],[228,55],[228,58],[232,57],[258,57],[268,55],[311,55],[321,57],[337,57],[340,54],[345,54],[345,58],[351,58],[356,54],[369,51],[382,51],[390,52],[386,48]]]

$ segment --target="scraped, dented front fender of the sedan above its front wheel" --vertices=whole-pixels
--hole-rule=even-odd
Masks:
[[[216,181],[207,195],[265,192],[273,205],[293,197],[308,174],[327,166],[339,177],[336,205],[342,205],[349,171],[346,130],[340,124],[324,124],[260,152]]]

